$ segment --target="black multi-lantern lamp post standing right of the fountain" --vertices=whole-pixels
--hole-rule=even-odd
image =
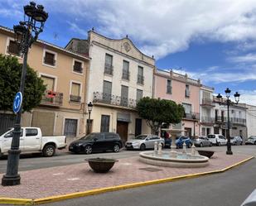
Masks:
[[[231,93],[231,90],[229,88],[225,89],[225,93],[226,93],[226,98],[227,98],[227,101],[226,103],[220,103],[220,104],[224,104],[224,105],[227,105],[227,108],[228,108],[228,130],[227,130],[227,133],[226,133],[226,136],[227,136],[227,139],[228,139],[228,142],[227,142],[227,151],[226,151],[226,154],[227,155],[233,155],[233,152],[231,151],[231,142],[230,142],[230,122],[229,122],[229,107],[231,105],[233,105],[233,103],[231,102],[231,100],[229,99],[230,97],[230,93]],[[240,97],[240,94],[238,92],[234,93],[234,100],[236,103],[239,103],[239,97]],[[220,95],[220,93],[218,94],[217,96],[218,99],[221,99],[222,96]]]

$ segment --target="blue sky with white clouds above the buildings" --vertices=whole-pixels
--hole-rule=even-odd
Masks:
[[[158,69],[200,79],[225,96],[256,105],[256,0],[38,0],[49,13],[41,40],[65,46],[87,31],[128,38]],[[12,28],[28,1],[0,0],[0,25]]]

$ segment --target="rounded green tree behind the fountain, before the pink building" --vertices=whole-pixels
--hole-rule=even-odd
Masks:
[[[167,99],[141,98],[137,109],[138,115],[146,119],[154,132],[158,132],[162,123],[177,124],[184,116],[183,106]]]

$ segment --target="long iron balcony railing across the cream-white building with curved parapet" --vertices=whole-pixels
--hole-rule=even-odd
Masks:
[[[94,103],[105,103],[126,108],[136,108],[137,101],[133,98],[124,98],[110,93],[94,92]]]

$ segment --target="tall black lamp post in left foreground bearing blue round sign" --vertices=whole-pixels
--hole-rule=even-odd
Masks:
[[[30,2],[24,7],[24,22],[13,26],[17,44],[19,44],[20,52],[23,56],[22,77],[20,84],[20,92],[24,93],[25,79],[27,74],[27,53],[32,43],[37,40],[39,34],[43,31],[44,24],[48,18],[48,13],[44,11],[44,7]],[[18,165],[21,151],[20,135],[21,135],[21,117],[22,103],[15,119],[14,130],[12,132],[12,145],[8,151],[7,173],[2,177],[2,186],[11,186],[21,184],[21,177],[18,174]]]

